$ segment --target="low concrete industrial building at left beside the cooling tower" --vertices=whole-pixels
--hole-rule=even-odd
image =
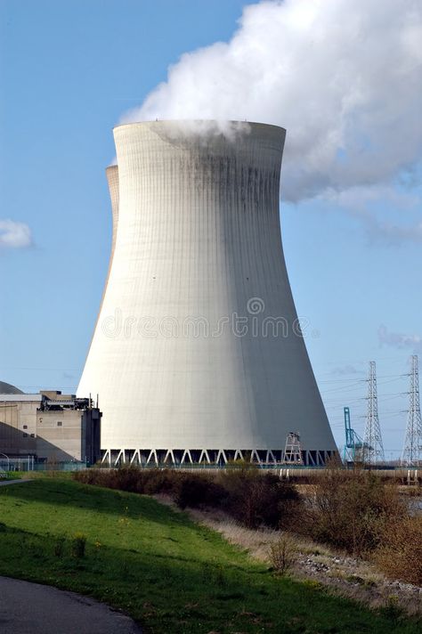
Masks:
[[[0,383],[0,452],[8,458],[94,464],[100,435],[101,412],[90,399],[59,391],[23,394]]]

